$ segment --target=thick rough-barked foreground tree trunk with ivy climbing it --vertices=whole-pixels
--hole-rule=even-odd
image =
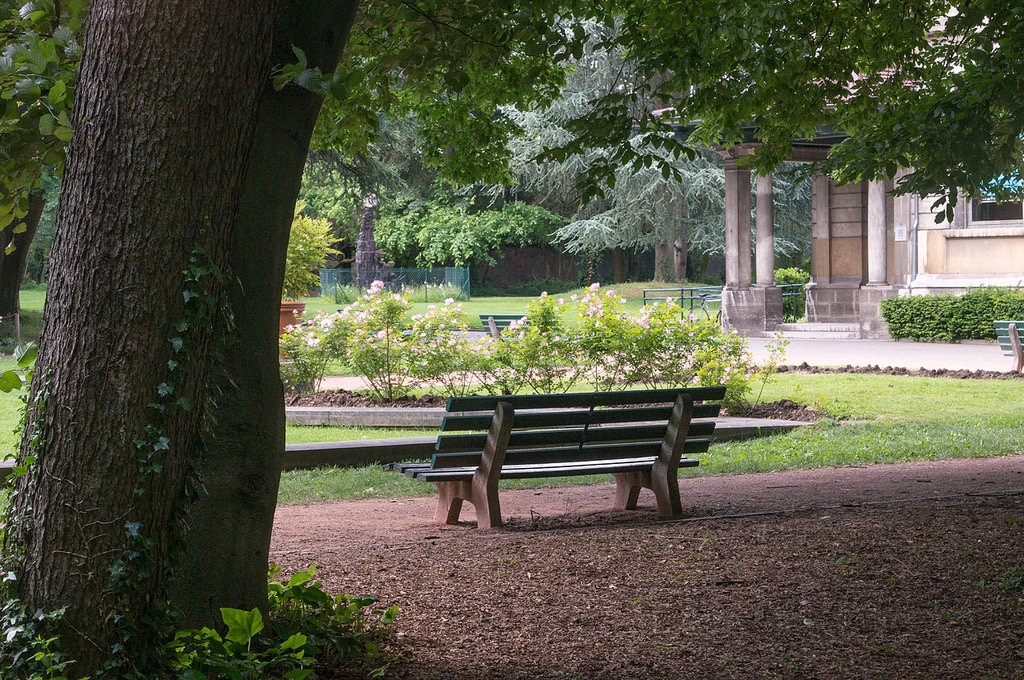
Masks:
[[[223,263],[276,5],[90,7],[22,450],[38,460],[4,549],[30,611],[67,607],[76,675],[153,650],[127,636],[166,601],[181,551],[214,345],[202,318],[181,326],[184,271],[197,247]],[[200,296],[207,316],[218,295]]]

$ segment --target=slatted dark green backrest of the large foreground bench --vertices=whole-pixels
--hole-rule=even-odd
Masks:
[[[477,465],[499,401],[515,412],[506,465],[656,457],[680,393],[694,401],[682,453],[705,453],[720,408],[712,400],[725,396],[722,386],[451,398],[431,465]]]

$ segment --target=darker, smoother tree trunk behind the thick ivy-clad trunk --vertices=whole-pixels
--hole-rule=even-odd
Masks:
[[[299,46],[309,65],[334,70],[356,2],[286,0],[274,62]],[[189,509],[185,556],[172,601],[188,626],[219,623],[219,607],[266,606],[270,530],[285,450],[278,310],[293,207],[321,99],[289,86],[267,87],[231,241],[230,302],[238,341],[226,355],[213,410],[216,426]]]

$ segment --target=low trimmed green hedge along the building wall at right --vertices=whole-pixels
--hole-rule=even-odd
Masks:
[[[882,301],[882,317],[895,339],[994,340],[993,321],[1024,318],[1024,291],[979,288],[958,296],[894,297]]]

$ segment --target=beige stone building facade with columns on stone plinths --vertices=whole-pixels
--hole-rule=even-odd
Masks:
[[[726,173],[726,282],[723,322],[744,335],[770,335],[781,324],[781,292],[772,284],[771,177],[757,177],[751,244],[750,170],[736,161],[753,151],[723,152]],[[796,147],[816,160],[824,147]],[[897,177],[898,180],[898,177]],[[837,185],[813,178],[811,281],[807,324],[887,338],[880,304],[894,295],[964,293],[981,286],[1024,286],[1024,210],[1020,203],[962,199],[952,221],[938,221],[934,198],[892,195],[892,181]],[[753,256],[752,256],[753,251]],[[753,263],[753,267],[752,267]]]

